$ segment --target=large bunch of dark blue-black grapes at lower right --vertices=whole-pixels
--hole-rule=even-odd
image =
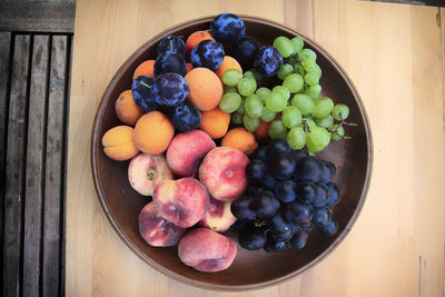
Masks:
[[[258,147],[246,168],[249,188],[230,208],[247,221],[239,245],[271,253],[304,248],[313,227],[334,235],[338,225],[333,207],[340,199],[337,185],[330,181],[335,174],[335,165],[291,150],[284,139]]]

